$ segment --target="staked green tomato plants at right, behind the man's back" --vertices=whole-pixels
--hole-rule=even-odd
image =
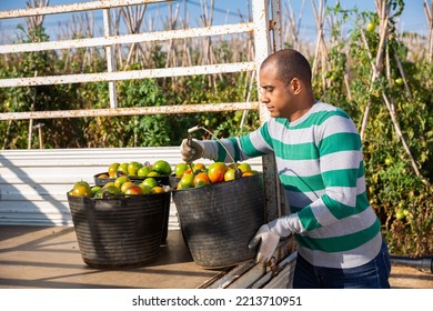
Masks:
[[[433,191],[430,185],[433,161],[433,102],[431,79],[427,77],[433,73],[432,64],[424,59],[409,60],[407,47],[400,41],[395,30],[395,20],[403,10],[403,1],[389,2],[392,6],[392,16],[387,41],[382,51],[384,57],[379,68],[380,76],[373,81],[372,64],[375,63],[379,51],[379,31],[369,32],[363,28],[369,21],[379,24],[377,16],[373,12],[359,13],[356,10],[341,11],[341,8],[336,7],[333,12],[343,14],[344,20],[352,16],[354,27],[346,40],[338,38],[339,31],[332,32],[334,42],[348,43],[332,46],[328,54],[331,70],[324,80],[320,74],[314,77],[314,90],[322,100],[346,110],[360,130],[369,107],[363,150],[371,204],[383,224],[383,233],[391,252],[430,254],[433,252]],[[385,53],[389,53],[387,58]],[[400,70],[397,60],[403,71]],[[343,81],[344,73],[351,78],[351,100]],[[396,82],[399,78],[400,81],[403,80],[403,73],[410,93],[402,83]],[[396,123],[391,118],[384,96],[392,106]],[[416,175],[413,169],[396,126],[421,175]]]

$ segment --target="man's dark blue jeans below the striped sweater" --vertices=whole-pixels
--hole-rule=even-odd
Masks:
[[[349,269],[314,267],[298,254],[294,289],[390,289],[391,261],[387,245],[370,262]]]

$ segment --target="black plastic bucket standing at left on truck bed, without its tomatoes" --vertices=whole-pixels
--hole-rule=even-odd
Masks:
[[[170,192],[120,199],[68,194],[83,261],[93,268],[141,267],[158,257]]]

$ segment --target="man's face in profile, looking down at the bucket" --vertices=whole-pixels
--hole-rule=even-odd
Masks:
[[[291,83],[278,79],[271,63],[260,70],[260,101],[266,104],[272,118],[290,118],[294,110]]]

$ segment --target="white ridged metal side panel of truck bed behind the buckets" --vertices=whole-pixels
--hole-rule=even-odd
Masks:
[[[73,183],[105,172],[112,162],[182,162],[179,147],[30,149],[0,151],[0,224],[71,225],[67,192]],[[201,161],[210,164],[212,161]],[[261,159],[248,161],[262,171]],[[179,229],[171,202],[169,229]]]

